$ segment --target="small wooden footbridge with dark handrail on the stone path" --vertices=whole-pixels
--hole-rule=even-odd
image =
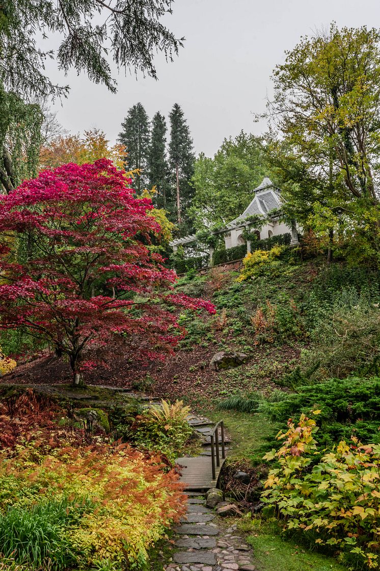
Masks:
[[[201,455],[177,458],[176,463],[181,466],[180,480],[187,491],[216,488],[230,441],[224,436],[223,420],[214,425],[206,417],[190,416],[188,422],[205,440]]]

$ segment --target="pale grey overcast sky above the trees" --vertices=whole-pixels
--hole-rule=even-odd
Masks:
[[[53,63],[54,81],[70,83],[68,99],[56,106],[68,131],[97,127],[115,142],[128,108],[141,102],[150,117],[166,117],[179,103],[189,122],[195,151],[213,155],[224,137],[242,129],[258,133],[255,112],[271,95],[271,73],[301,35],[329,26],[380,27],[379,0],[175,0],[167,25],[185,36],[174,63],[156,58],[158,81],[120,74],[113,95],[85,75],[62,77]],[[115,71],[116,75],[116,71]]]

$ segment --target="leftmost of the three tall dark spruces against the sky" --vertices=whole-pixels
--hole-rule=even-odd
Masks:
[[[130,107],[121,123],[119,142],[128,152],[126,163],[129,170],[138,168],[141,175],[136,177],[134,186],[140,192],[148,184],[148,155],[150,144],[149,117],[141,103]]]

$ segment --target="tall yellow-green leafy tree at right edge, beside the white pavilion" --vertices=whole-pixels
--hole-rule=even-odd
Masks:
[[[379,41],[378,30],[339,30],[334,23],[302,38],[276,67],[269,104],[288,164],[300,167],[301,160],[299,174],[306,172],[307,184],[319,181],[318,192],[310,194],[308,223],[318,230],[321,207],[328,208],[330,236],[345,234],[353,247],[360,243],[363,259],[378,259],[380,249]],[[295,204],[305,185],[299,176],[293,183]]]

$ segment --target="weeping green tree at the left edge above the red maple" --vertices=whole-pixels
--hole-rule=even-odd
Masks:
[[[43,114],[1,84],[0,108],[0,194],[9,194],[37,174]]]

